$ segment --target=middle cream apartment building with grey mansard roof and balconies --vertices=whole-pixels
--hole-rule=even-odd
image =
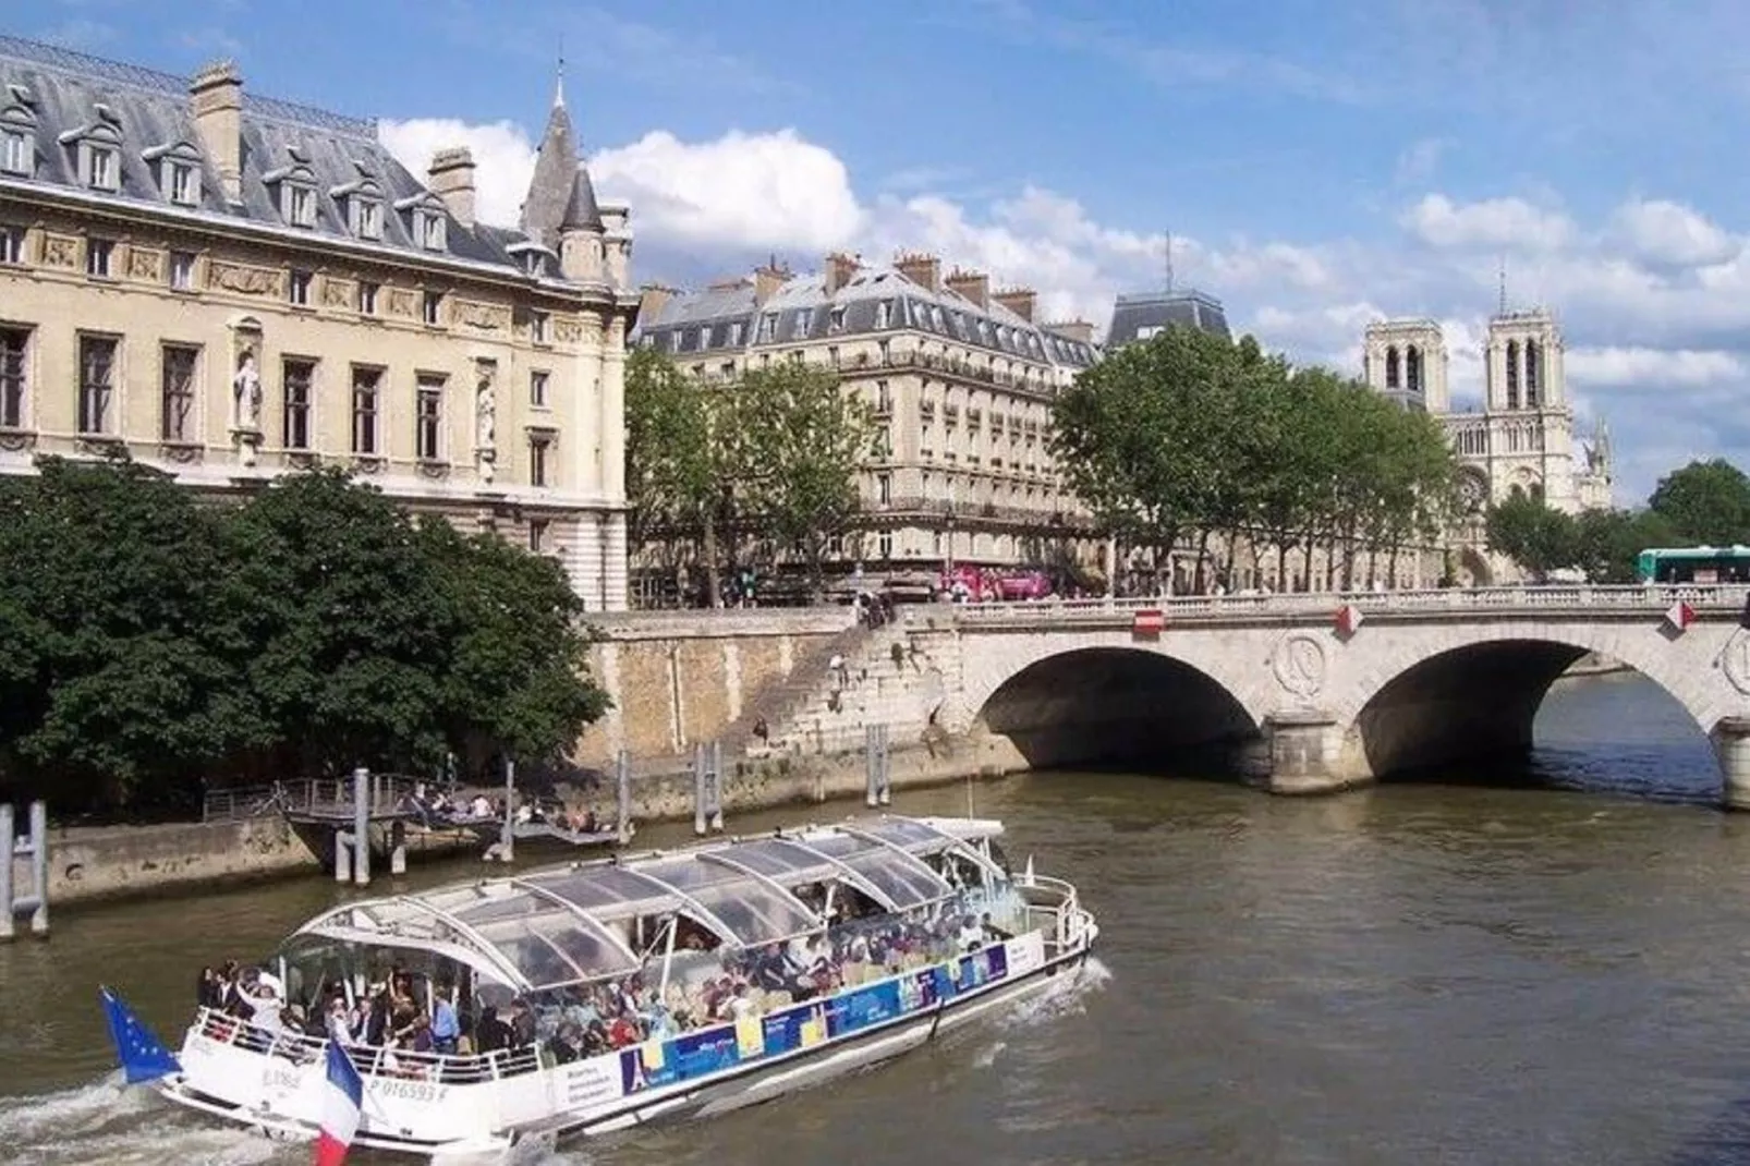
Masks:
[[[1097,560],[1046,445],[1052,401],[1094,362],[1094,326],[1034,319],[1031,289],[934,256],[819,271],[768,264],[696,292],[649,287],[637,343],[702,378],[817,361],[875,410],[884,453],[863,471],[866,529],[844,562],[877,574],[1018,567],[1055,544]]]

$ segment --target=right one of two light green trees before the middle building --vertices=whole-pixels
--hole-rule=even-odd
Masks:
[[[730,450],[742,516],[802,551],[819,599],[828,543],[861,511],[858,471],[886,453],[873,411],[831,369],[788,361],[742,376],[723,408],[719,443]]]

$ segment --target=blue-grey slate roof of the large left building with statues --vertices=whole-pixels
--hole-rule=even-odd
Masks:
[[[396,205],[425,201],[441,214],[446,212],[434,201],[436,196],[425,184],[396,161],[376,138],[374,121],[280,102],[250,93],[245,86],[242,201],[231,205],[226,201],[217,166],[194,128],[186,77],[18,37],[0,37],[0,117],[28,114],[35,121],[37,168],[24,182],[98,194],[80,184],[77,151],[60,138],[63,133],[96,123],[102,116],[100,103],[121,133],[121,180],[117,191],[103,194],[105,198],[168,208],[168,196],[159,189],[154,166],[142,158],[142,152],[187,144],[200,156],[201,193],[194,210],[201,217],[292,229],[284,222],[273,186],[264,175],[301,163],[315,179],[317,222],[312,229],[298,229],[299,235],[352,240],[341,201],[332,191],[368,177],[383,194],[383,233],[382,240],[369,240],[371,247],[422,256],[444,254],[453,259],[523,270],[506,250],[523,236],[500,228],[481,224],[469,229],[448,219],[444,252],[424,249],[411,236],[410,217]],[[0,179],[18,180],[12,175]]]

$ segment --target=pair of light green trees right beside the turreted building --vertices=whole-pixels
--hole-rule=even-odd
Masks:
[[[875,453],[868,404],[817,364],[782,361],[700,382],[654,348],[626,368],[632,541],[698,564],[710,602],[724,571],[800,557],[824,588],[828,543],[852,529],[858,469]]]

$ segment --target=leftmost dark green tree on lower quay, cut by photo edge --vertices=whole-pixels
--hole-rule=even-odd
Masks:
[[[262,725],[214,515],[126,459],[0,490],[0,756],[58,805],[187,805]]]

